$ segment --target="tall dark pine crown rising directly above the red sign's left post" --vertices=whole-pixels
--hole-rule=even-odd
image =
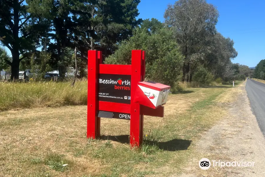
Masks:
[[[73,20],[80,24],[74,33],[74,41],[80,44],[82,55],[87,50],[101,50],[106,57],[117,49],[117,44],[132,35],[142,19],[137,6],[140,0],[96,0],[85,3],[75,13]]]

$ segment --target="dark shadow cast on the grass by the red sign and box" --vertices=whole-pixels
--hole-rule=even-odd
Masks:
[[[100,139],[102,140],[112,140],[120,143],[130,143],[129,135],[117,135],[117,136],[107,136],[102,135]],[[191,145],[191,140],[181,140],[181,139],[173,139],[166,142],[157,142],[157,141],[145,141],[145,143],[149,145],[158,145],[158,148],[161,150],[167,151],[178,151],[178,150],[187,150]]]

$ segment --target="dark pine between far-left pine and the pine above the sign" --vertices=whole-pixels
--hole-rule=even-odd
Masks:
[[[46,34],[41,36],[41,44],[45,51],[52,52],[50,64],[58,68],[59,75],[64,78],[67,65],[65,65],[63,51],[66,47],[73,47],[72,34],[77,26],[72,21],[74,9],[81,1],[60,1],[60,0],[33,0],[35,3],[30,10],[43,11],[43,17],[49,22]],[[50,40],[54,42],[50,42]]]

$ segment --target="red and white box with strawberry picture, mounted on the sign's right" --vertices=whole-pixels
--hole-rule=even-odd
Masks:
[[[155,82],[138,82],[134,102],[156,109],[167,102],[170,86]]]

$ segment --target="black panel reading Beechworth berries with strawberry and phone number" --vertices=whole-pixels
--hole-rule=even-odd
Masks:
[[[131,103],[131,76],[99,74],[98,100],[115,103]]]

